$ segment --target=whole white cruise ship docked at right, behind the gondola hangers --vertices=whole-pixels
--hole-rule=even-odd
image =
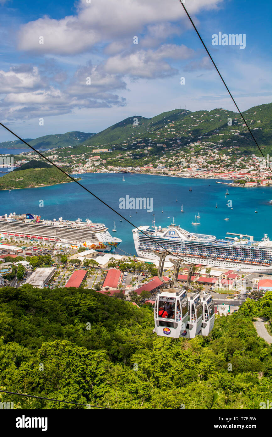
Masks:
[[[163,247],[174,256],[203,267],[272,273],[272,241],[267,234],[262,241],[254,241],[253,236],[244,238],[243,235],[239,235],[240,238],[217,239],[213,235],[188,232],[175,224],[166,228],[153,227],[139,226],[142,232],[132,229],[138,257],[158,260],[153,250],[162,250]],[[165,259],[173,258],[173,255]]]

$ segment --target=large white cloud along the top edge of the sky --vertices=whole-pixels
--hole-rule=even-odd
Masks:
[[[189,10],[215,8],[222,0],[192,0]],[[39,18],[24,24],[19,31],[18,48],[37,53],[76,54],[93,48],[98,42],[109,42],[120,37],[133,38],[145,26],[152,24],[159,33],[160,23],[187,20],[178,1],[157,0],[100,0],[78,3],[77,14],[60,20]],[[169,25],[161,31],[170,32]],[[40,44],[39,38],[44,38]]]

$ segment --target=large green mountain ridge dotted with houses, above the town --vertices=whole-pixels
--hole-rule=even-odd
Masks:
[[[255,106],[243,112],[260,147],[265,153],[272,152],[272,103]],[[134,119],[138,118],[138,126]],[[231,118],[231,125],[228,125]],[[240,114],[217,108],[211,111],[186,111],[176,109],[159,114],[153,118],[139,115],[126,118],[102,132],[84,141],[85,146],[113,146],[118,149],[129,148],[138,141],[149,139],[156,143],[165,143],[179,139],[181,145],[189,142],[209,142],[220,146],[229,146],[233,142],[245,154],[260,155],[251,134]],[[230,143],[229,143],[230,142]],[[127,143],[124,145],[124,143]],[[83,145],[74,147],[73,153],[86,152]]]

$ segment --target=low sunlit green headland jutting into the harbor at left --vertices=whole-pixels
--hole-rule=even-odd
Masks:
[[[52,168],[32,168],[28,170],[11,171],[0,177],[0,190],[12,188],[43,187],[46,185],[71,182],[60,170]]]

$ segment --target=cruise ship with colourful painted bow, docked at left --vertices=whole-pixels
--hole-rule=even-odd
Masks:
[[[103,223],[88,218],[77,220],[41,219],[40,215],[16,214],[0,216],[0,240],[13,239],[24,243],[57,244],[57,246],[97,250],[114,253],[121,239],[112,237]]]

